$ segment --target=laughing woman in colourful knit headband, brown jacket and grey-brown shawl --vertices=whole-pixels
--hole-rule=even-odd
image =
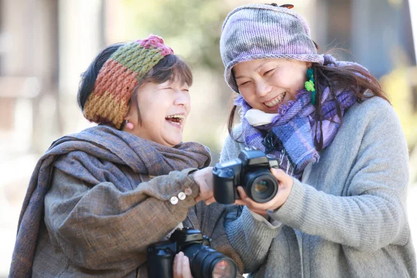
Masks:
[[[10,277],[147,277],[147,246],[176,227],[201,230],[242,264],[223,222],[202,220],[213,202],[210,154],[182,142],[192,81],[155,35],[101,51],[79,88],[84,116],[99,125],[56,140],[40,158]],[[211,219],[223,212],[211,209]],[[190,277],[187,264],[180,252],[174,277]]]

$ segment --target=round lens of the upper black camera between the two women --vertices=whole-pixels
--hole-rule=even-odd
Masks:
[[[265,168],[247,172],[243,178],[247,195],[257,203],[270,201],[278,192],[278,181]]]

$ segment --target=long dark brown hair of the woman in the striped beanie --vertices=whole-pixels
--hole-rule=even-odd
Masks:
[[[334,67],[329,67],[330,64],[333,64]],[[322,115],[321,109],[321,97],[322,97],[322,88],[329,87],[330,94],[335,101],[336,111],[338,117],[341,119],[341,124],[343,123],[343,117],[341,112],[341,104],[336,98],[337,91],[352,90],[357,95],[357,101],[361,102],[370,97],[382,97],[386,101],[389,101],[386,93],[382,90],[381,85],[377,79],[370,74],[370,72],[364,70],[362,67],[355,65],[347,65],[345,67],[338,67],[336,63],[328,62],[324,65],[318,63],[313,63],[313,74],[315,79],[315,88],[316,88],[316,113],[314,115],[315,120],[319,123],[316,126],[316,136],[314,137],[314,145],[316,149],[320,152],[323,146],[323,136],[322,134],[322,121],[331,120],[325,119]],[[372,95],[365,95],[366,91],[370,90]],[[235,137],[232,133],[234,125],[234,115],[236,112],[236,105],[231,108],[229,114],[229,120],[227,122],[227,130],[231,138],[234,140]],[[319,129],[319,130],[318,130]]]

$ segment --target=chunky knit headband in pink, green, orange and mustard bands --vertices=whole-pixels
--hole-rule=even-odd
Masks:
[[[119,47],[99,71],[94,90],[84,106],[90,122],[113,124],[120,129],[129,111],[133,88],[163,57],[174,54],[157,35]]]

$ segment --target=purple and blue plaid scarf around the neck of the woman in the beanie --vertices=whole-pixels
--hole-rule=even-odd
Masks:
[[[333,63],[336,63],[338,67],[357,65],[349,62],[336,62],[330,55],[325,55],[324,58],[325,65],[330,67],[334,66]],[[342,115],[357,101],[357,96],[350,90],[336,92],[336,98],[341,106]],[[277,114],[270,122],[267,120],[261,125],[253,122],[252,125],[248,121],[247,116],[254,111],[241,95],[235,99],[235,105],[240,106],[245,146],[272,154],[279,159],[279,167],[297,179],[300,179],[307,164],[311,161],[317,162],[320,158],[314,145],[316,132],[318,140],[322,137],[324,149],[336,136],[341,123],[336,111],[336,102],[329,88],[322,90],[321,107],[323,119],[325,119],[322,120],[322,133],[320,123],[314,118],[316,108],[311,104],[311,92],[305,89],[300,90],[295,100],[279,106]]]

